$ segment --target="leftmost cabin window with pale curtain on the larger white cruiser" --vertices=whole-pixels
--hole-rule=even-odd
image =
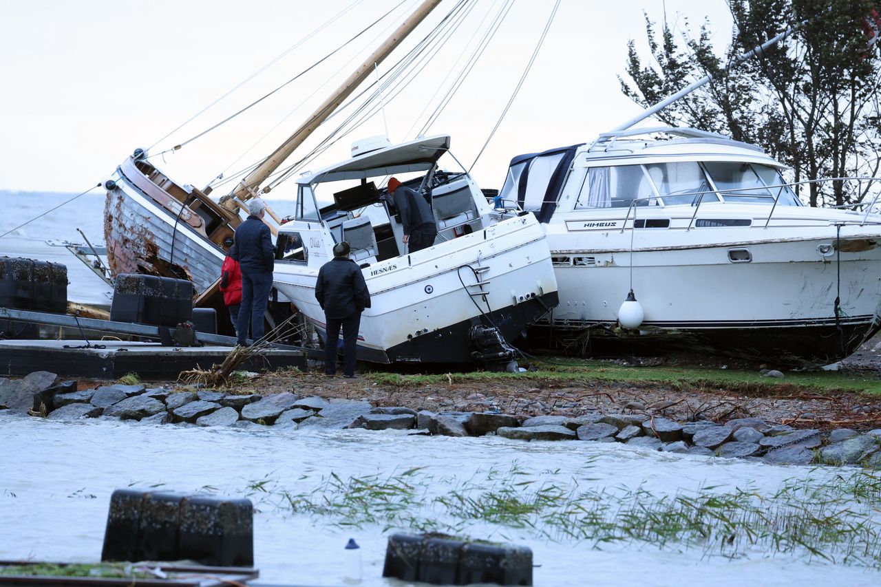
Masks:
[[[655,191],[640,165],[589,167],[575,208],[627,208],[656,205]]]

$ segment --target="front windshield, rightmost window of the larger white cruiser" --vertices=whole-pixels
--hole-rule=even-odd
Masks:
[[[779,197],[780,205],[801,204],[774,167],[728,161],[705,161],[704,166],[726,202],[774,204]]]

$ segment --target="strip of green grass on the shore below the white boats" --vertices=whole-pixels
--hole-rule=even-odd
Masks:
[[[662,383],[673,388],[723,389],[745,394],[797,393],[811,390],[819,393],[836,391],[858,392],[881,396],[881,378],[874,375],[840,373],[838,371],[788,371],[785,378],[761,376],[757,371],[700,367],[626,367],[598,360],[555,360],[536,362],[536,370],[526,373],[449,373],[434,375],[401,375],[371,373],[379,384],[396,387],[423,387],[450,383],[505,383],[534,381],[542,383]]]

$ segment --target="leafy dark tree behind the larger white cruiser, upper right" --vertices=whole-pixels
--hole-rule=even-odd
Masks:
[[[878,46],[869,46],[873,0],[728,0],[735,26],[725,55],[710,42],[709,23],[698,38],[677,41],[663,23],[660,41],[646,14],[655,66],[628,44],[622,92],[648,107],[696,78],[713,81],[657,116],[758,145],[793,169],[794,182],[874,176],[881,158],[881,79]],[[877,13],[876,13],[877,14]],[[784,41],[727,70],[745,51],[795,26]],[[850,186],[850,187],[848,187]],[[872,182],[809,183],[799,189],[811,205],[869,203]]]

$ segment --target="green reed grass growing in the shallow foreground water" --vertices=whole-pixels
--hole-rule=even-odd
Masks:
[[[597,549],[698,549],[727,558],[786,554],[881,568],[881,477],[875,472],[850,472],[825,484],[792,479],[770,494],[718,487],[655,494],[645,487],[581,487],[573,481],[516,467],[456,481],[414,468],[384,476],[331,473],[297,493],[267,479],[251,487],[272,508],[340,528],[379,524],[383,531],[463,536],[490,524],[505,539],[514,530]]]

